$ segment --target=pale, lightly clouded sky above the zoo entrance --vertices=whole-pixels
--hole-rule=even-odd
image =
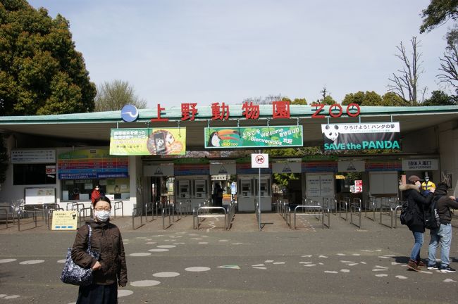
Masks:
[[[268,95],[383,95],[400,42],[421,41],[419,87],[438,84],[447,26],[419,34],[429,0],[30,0],[70,21],[97,85],[125,80],[148,107]],[[450,91],[447,91],[450,94]]]

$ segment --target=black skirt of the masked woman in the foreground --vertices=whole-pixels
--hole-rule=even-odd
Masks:
[[[118,286],[111,285],[80,286],[76,304],[116,304],[118,303]]]

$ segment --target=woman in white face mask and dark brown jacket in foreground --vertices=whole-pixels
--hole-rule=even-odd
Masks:
[[[118,227],[110,222],[109,198],[97,198],[93,208],[94,219],[78,229],[72,248],[73,261],[81,267],[91,267],[94,277],[91,285],[80,286],[76,303],[118,303],[118,286],[124,287],[128,281],[123,240]],[[87,225],[92,228],[91,250],[100,253],[99,260],[86,252]]]

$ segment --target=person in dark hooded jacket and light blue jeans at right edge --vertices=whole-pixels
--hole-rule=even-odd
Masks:
[[[452,213],[450,208],[458,209],[458,203],[453,196],[447,196],[448,186],[445,183],[438,184],[435,189],[433,200],[437,202],[437,212],[440,218],[440,227],[430,230],[431,240],[428,246],[428,270],[440,270],[440,272],[455,272],[450,267],[450,245],[452,243]],[[440,244],[440,265],[435,260],[435,252]],[[439,266],[439,267],[438,267]]]

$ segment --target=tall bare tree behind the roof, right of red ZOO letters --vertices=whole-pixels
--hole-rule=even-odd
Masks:
[[[404,101],[407,101],[411,106],[417,106],[419,104],[419,93],[421,95],[421,101],[424,100],[427,88],[418,91],[418,81],[420,75],[424,72],[421,67],[421,53],[418,51],[420,42],[416,40],[416,37],[412,37],[411,40],[412,53],[411,58],[407,55],[407,51],[402,42],[396,49],[400,52],[395,56],[400,58],[404,63],[402,70],[397,70],[400,75],[393,73],[392,78],[388,78],[392,84],[388,84],[388,91],[392,91],[400,96]]]

